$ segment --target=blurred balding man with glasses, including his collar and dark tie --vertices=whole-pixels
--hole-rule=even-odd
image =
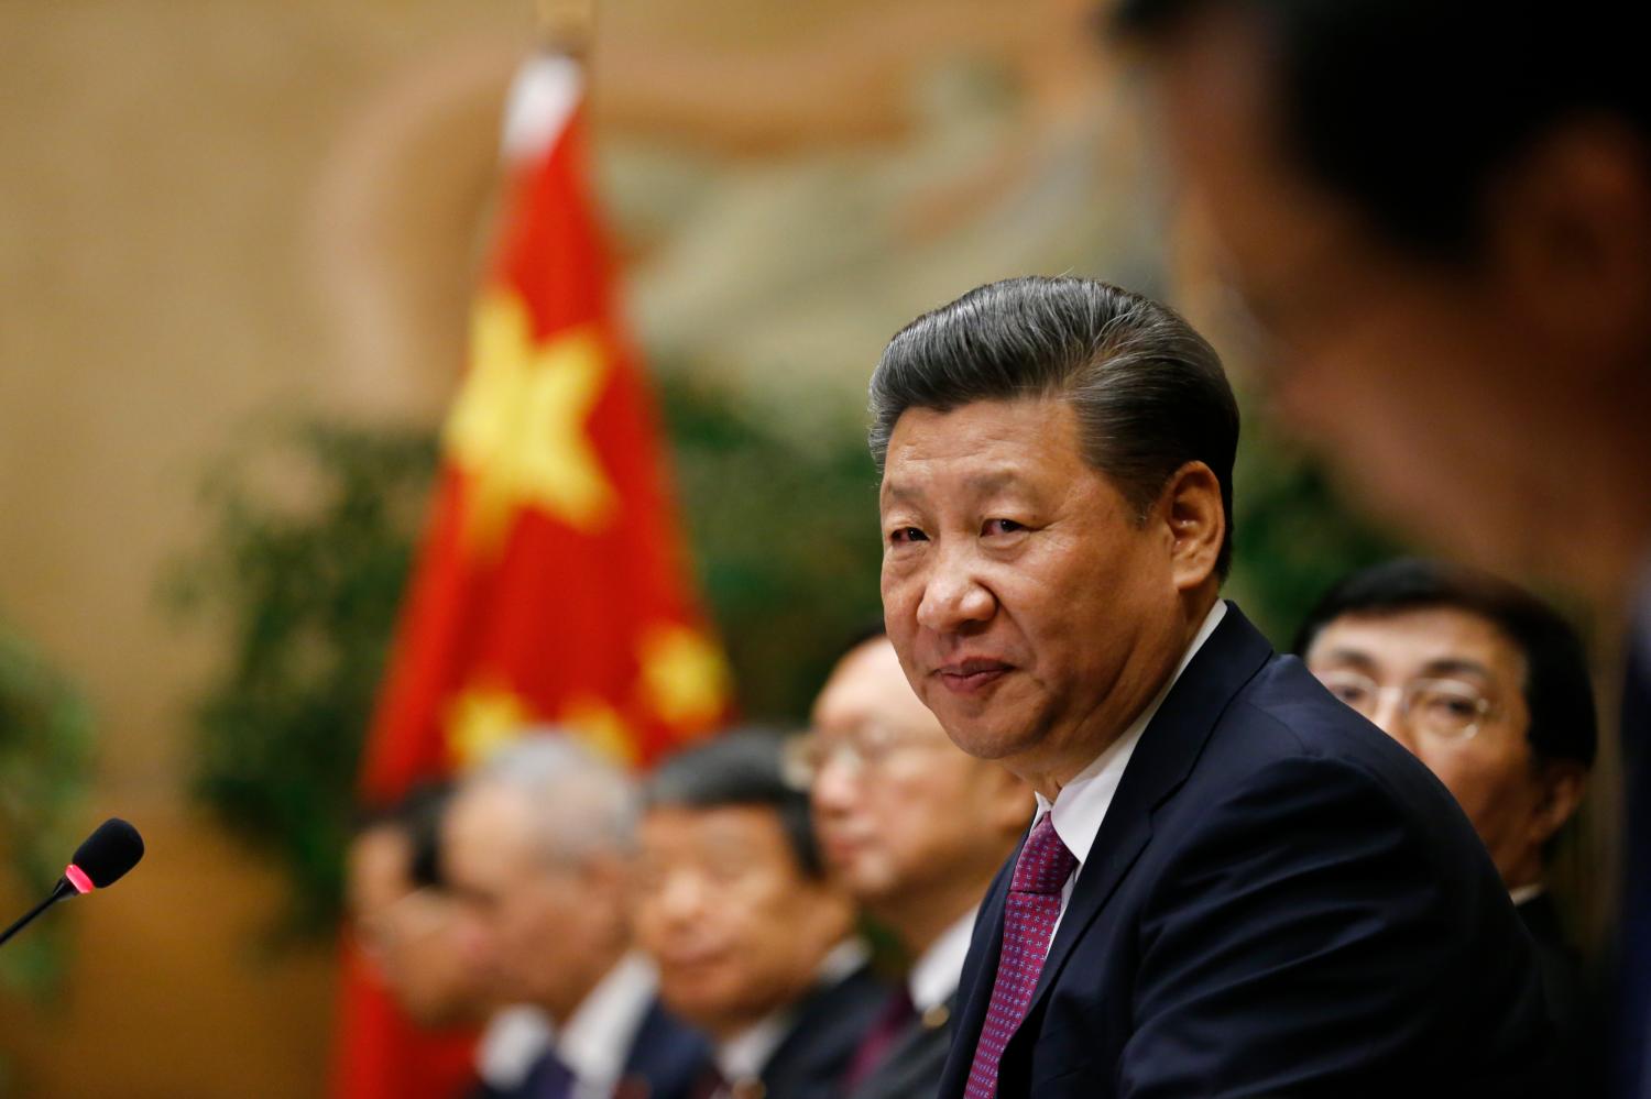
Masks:
[[[946,738],[882,632],[837,662],[797,748],[827,863],[910,959],[845,1086],[854,1099],[934,1094],[974,914],[1032,790]]]

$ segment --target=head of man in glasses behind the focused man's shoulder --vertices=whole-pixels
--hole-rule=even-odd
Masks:
[[[1540,878],[1597,744],[1587,655],[1552,607],[1483,573],[1390,561],[1332,587],[1296,650],[1450,787],[1509,888]]]

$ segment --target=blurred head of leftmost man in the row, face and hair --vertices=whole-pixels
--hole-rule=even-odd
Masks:
[[[347,889],[357,941],[423,1026],[477,1018],[487,988],[466,964],[454,903],[436,878],[446,787],[419,787],[350,843]]]

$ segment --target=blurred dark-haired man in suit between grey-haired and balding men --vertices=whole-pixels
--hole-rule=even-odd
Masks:
[[[730,733],[672,756],[646,805],[637,941],[665,1003],[715,1041],[695,1099],[840,1096],[887,990],[779,738]]]

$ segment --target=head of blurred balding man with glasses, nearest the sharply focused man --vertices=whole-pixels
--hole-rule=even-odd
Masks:
[[[1024,782],[948,739],[883,634],[832,668],[797,749],[827,863],[918,949],[984,896],[1032,817]]]

